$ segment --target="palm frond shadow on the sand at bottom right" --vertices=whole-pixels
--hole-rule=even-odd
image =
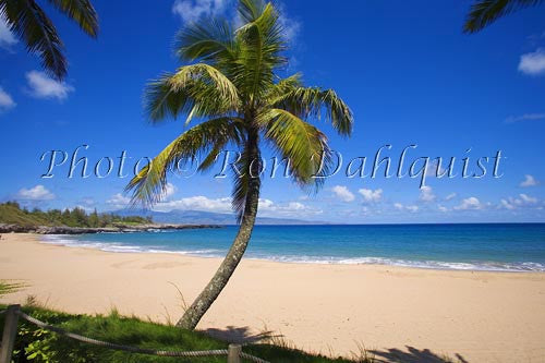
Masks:
[[[375,355],[376,362],[388,363],[469,363],[461,354],[456,353],[456,359],[437,354],[429,349],[416,349],[405,346],[407,351],[390,348],[386,350],[370,350]]]

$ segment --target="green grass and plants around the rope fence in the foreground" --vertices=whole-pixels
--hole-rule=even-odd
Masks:
[[[5,306],[0,306],[4,308]],[[72,315],[39,306],[24,306],[23,311],[43,322],[61,327],[65,330],[77,332],[86,337],[105,340],[113,343],[128,344],[148,349],[160,350],[210,350],[226,349],[227,343],[214,339],[204,332],[189,331],[173,326],[144,322],[135,317],[123,317],[112,312],[110,315],[89,316]],[[3,316],[0,316],[3,329]],[[13,362],[112,362],[112,363],[147,363],[147,362],[226,362],[226,356],[180,359],[159,358],[145,354],[134,354],[108,350],[95,346],[81,343],[55,332],[43,330],[20,319],[19,334]],[[277,340],[278,342],[278,340]],[[280,342],[281,343],[281,342]],[[371,363],[373,360],[362,356],[356,360],[329,359],[318,354],[272,343],[254,343],[244,346],[243,351],[270,362],[302,362],[302,363]]]

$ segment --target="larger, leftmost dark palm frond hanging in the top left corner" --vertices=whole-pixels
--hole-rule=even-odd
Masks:
[[[64,46],[57,28],[36,2],[3,0],[0,3],[0,12],[10,29],[24,39],[28,52],[37,53],[41,58],[44,69],[57,78],[63,78],[66,75]]]

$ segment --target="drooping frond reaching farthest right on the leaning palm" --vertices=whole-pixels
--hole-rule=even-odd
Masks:
[[[319,87],[294,87],[272,100],[272,105],[283,108],[302,119],[320,119],[323,110],[327,119],[341,135],[352,133],[353,116],[350,108],[332,89]]]

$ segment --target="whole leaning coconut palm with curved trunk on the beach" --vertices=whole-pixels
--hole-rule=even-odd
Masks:
[[[167,173],[181,162],[198,161],[209,169],[226,146],[240,150],[233,172],[232,207],[239,231],[226,258],[178,326],[194,329],[239,265],[250,241],[257,214],[262,170],[261,146],[267,141],[287,158],[292,179],[303,187],[317,187],[315,173],[330,167],[326,135],[307,119],[320,113],[341,135],[352,131],[352,113],[331,89],[304,87],[300,74],[280,78],[286,50],[278,13],[271,3],[240,0],[242,25],[225,21],[192,24],[177,36],[178,56],[186,62],[175,73],[164,74],[148,85],[147,113],[153,122],[186,113],[206,121],[189,129],[170,143],[129,183],[133,202],[158,202],[167,185]]]

